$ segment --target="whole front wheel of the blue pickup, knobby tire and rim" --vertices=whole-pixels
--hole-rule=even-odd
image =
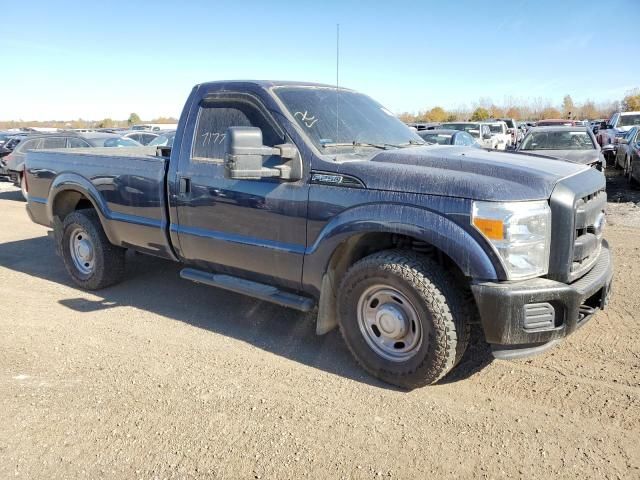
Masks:
[[[342,336],[372,375],[403,388],[434,383],[469,340],[467,300],[437,263],[387,250],[354,264],[338,296]]]

